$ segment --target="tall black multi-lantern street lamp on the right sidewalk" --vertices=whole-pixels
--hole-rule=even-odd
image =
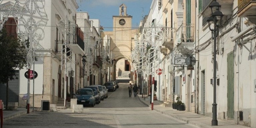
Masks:
[[[223,13],[219,10],[221,5],[214,0],[209,8],[211,8],[212,15],[207,20],[210,31],[212,31],[213,37],[213,118],[212,118],[212,126],[218,125],[217,120],[217,103],[216,103],[216,38],[218,36],[218,29],[221,25]],[[216,9],[215,11],[213,9]],[[214,11],[214,12],[213,12]],[[214,24],[214,28],[211,28],[211,24]]]

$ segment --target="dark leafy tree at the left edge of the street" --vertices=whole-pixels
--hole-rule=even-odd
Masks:
[[[26,66],[24,44],[14,36],[8,36],[6,29],[0,31],[0,83],[6,83],[6,107],[8,109],[8,82],[14,79],[15,69]]]

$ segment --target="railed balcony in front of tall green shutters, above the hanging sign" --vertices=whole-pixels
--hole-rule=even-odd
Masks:
[[[182,24],[176,32],[177,50],[183,54],[191,54],[194,49],[194,25]]]

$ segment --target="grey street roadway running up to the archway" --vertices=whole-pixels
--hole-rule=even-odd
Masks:
[[[83,113],[72,109],[58,112],[31,112],[8,119],[4,128],[197,128],[173,117],[152,111],[138,97],[129,97],[129,80],[119,80],[119,88]]]

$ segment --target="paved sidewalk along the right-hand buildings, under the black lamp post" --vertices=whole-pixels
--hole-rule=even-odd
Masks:
[[[140,101],[151,108],[150,97],[142,98],[142,95],[138,96]],[[233,124],[227,121],[218,119],[218,126],[212,126],[212,118],[192,112],[178,111],[172,107],[164,107],[159,105],[160,101],[154,101],[153,109],[162,114],[174,117],[188,124],[195,125],[200,128],[248,128],[242,125]]]

